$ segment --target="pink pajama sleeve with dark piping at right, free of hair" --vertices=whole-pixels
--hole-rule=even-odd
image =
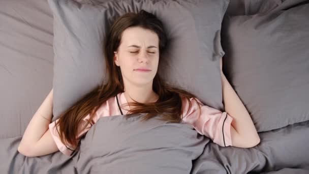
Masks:
[[[227,112],[203,105],[198,99],[198,102],[193,98],[190,101],[192,105],[187,113],[189,102],[186,98],[182,100],[184,115],[182,122],[191,124],[198,133],[209,137],[222,147],[232,146],[231,123],[233,118]]]

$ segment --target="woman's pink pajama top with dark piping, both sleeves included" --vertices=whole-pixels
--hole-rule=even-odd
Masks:
[[[231,123],[233,118],[227,114],[227,112],[221,112],[220,110],[203,105],[198,99],[198,102],[193,100],[193,98],[190,100],[192,105],[190,111],[187,113],[189,109],[189,102],[186,98],[182,99],[183,115],[181,123],[192,125],[199,134],[209,137],[214,143],[219,144],[219,146],[232,146]],[[96,116],[93,119],[94,123],[96,123],[101,117],[127,114],[129,111],[129,106],[121,106],[120,108],[118,107],[118,103],[119,106],[121,106],[121,104],[128,103],[123,93],[119,93],[117,96],[109,98],[100,106],[96,112]],[[199,105],[201,106],[200,114],[198,110]],[[87,123],[86,120],[89,120],[89,118],[90,115],[88,114],[83,119],[84,122],[82,122],[80,128],[82,128]],[[59,119],[49,124],[49,130],[59,151],[67,156],[70,156],[74,149],[68,146],[68,144],[66,146],[61,142],[57,131],[59,128],[55,128],[55,122],[58,122],[58,120]],[[90,127],[91,125],[88,124],[86,129],[83,131],[79,129],[77,138],[80,138],[82,135],[84,135],[90,129]]]

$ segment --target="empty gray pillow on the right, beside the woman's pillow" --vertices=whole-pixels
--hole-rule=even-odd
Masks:
[[[223,21],[223,71],[258,132],[309,120],[308,16],[304,4]]]

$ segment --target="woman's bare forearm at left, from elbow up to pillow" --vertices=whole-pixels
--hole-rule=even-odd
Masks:
[[[50,124],[52,118],[52,94],[53,92],[51,90],[39,109],[34,114],[33,118],[30,120],[19,146],[22,146],[23,148],[32,146],[37,141],[39,141],[43,134],[47,131],[48,125]]]

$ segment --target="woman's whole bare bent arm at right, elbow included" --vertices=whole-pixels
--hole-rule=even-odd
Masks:
[[[231,139],[233,146],[239,148],[251,148],[256,146],[260,143],[260,137],[248,110],[242,104],[231,84],[223,74],[222,65],[221,81],[225,111],[233,118],[231,123]]]

